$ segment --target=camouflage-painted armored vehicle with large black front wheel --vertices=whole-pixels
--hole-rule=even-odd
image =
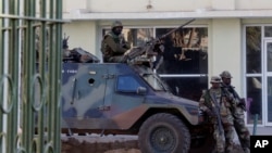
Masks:
[[[63,63],[62,73],[63,132],[138,135],[143,153],[197,152],[209,139],[198,103],[172,94],[148,67]]]

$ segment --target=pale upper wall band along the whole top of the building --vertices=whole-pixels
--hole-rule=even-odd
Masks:
[[[148,9],[148,5],[151,8]],[[64,0],[63,12],[188,12],[272,9],[271,0]]]

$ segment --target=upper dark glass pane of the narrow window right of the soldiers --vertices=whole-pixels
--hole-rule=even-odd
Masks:
[[[247,74],[261,73],[261,27],[246,27]]]

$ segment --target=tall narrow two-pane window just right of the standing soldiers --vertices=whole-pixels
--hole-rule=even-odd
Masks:
[[[269,34],[268,34],[269,36]],[[247,124],[254,124],[255,115],[261,120],[262,107],[262,44],[261,26],[246,27],[246,94]]]

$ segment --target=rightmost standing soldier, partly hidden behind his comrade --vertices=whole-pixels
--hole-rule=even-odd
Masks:
[[[245,125],[245,115],[244,111],[246,107],[245,99],[240,99],[237,94],[237,92],[234,90],[234,87],[231,85],[232,82],[232,75],[230,72],[224,71],[220,74],[223,82],[222,88],[233,94],[235,99],[237,99],[237,104],[233,106],[232,113],[234,117],[234,128],[236,130],[236,133],[238,136],[240,145],[245,153],[249,153],[250,149],[250,133],[248,128]]]

